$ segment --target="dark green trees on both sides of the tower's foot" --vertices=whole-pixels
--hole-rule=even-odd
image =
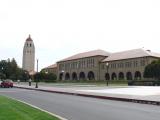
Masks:
[[[16,60],[0,61],[0,79],[21,80],[27,82],[31,76],[28,71],[18,67]],[[45,73],[43,71],[36,73],[33,78],[35,81],[55,82],[56,75],[54,73]]]

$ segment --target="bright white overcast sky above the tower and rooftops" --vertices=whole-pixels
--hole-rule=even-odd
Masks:
[[[160,0],[0,0],[0,60],[22,67],[28,35],[39,69],[77,53],[160,53]]]

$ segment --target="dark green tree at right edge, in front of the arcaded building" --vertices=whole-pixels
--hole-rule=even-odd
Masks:
[[[145,67],[144,77],[160,80],[160,60],[153,61]]]

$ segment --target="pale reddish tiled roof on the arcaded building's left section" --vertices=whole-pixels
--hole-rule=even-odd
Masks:
[[[83,53],[73,55],[71,57],[65,58],[65,59],[60,60],[58,62],[75,60],[75,59],[86,58],[86,57],[93,57],[93,56],[106,56],[107,57],[109,55],[110,55],[110,53],[106,52],[104,50],[93,50],[93,51],[83,52]]]

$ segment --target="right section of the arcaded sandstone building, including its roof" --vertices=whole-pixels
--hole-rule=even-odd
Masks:
[[[145,67],[160,54],[149,50],[134,49],[113,53],[101,62],[102,80],[140,80],[144,79]]]

